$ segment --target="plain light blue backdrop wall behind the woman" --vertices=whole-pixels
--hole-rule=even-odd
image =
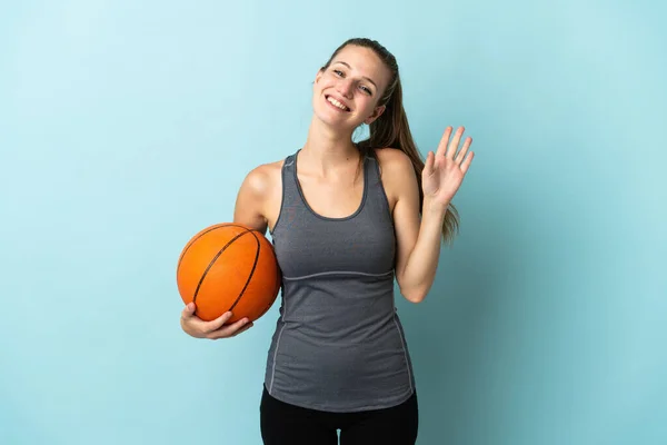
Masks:
[[[424,154],[475,139],[437,283],[397,295],[419,444],[667,443],[665,4],[3,2],[0,443],[260,444],[278,304],[188,337],[176,263],[350,37],[398,58]]]

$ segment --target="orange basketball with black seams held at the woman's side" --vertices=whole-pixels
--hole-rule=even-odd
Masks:
[[[195,301],[199,318],[210,322],[228,310],[228,323],[253,322],[273,304],[280,269],[273,246],[258,230],[240,224],[218,224],[195,235],[176,270],[178,291]]]

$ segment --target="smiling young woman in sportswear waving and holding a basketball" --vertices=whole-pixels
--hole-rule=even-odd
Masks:
[[[419,303],[452,239],[451,199],[472,161],[448,127],[426,162],[402,107],[396,59],[375,40],[341,44],[317,72],[306,144],[243,180],[235,221],[270,230],[283,275],[280,317],[260,407],[265,444],[414,444],[418,405],[400,294]],[[369,126],[369,138],[352,135]],[[451,139],[451,140],[450,140]],[[226,338],[227,325],[181,315],[186,333]]]

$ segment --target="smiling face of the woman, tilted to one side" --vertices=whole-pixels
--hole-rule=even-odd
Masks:
[[[312,107],[325,123],[355,129],[377,119],[385,107],[378,100],[391,73],[374,50],[347,46],[318,71],[313,85]]]

